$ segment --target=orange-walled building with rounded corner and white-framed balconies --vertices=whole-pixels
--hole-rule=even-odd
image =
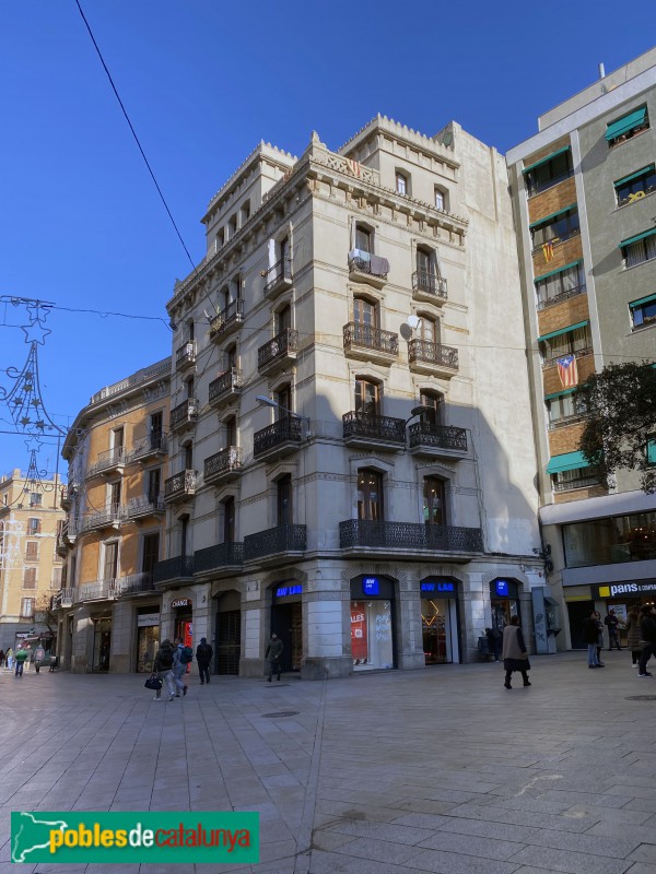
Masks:
[[[171,358],[94,394],[62,456],[68,485],[54,601],[60,666],[150,672],[160,641],[153,569],[164,557]]]

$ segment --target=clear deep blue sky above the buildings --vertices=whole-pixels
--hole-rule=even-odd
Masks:
[[[382,113],[426,134],[456,119],[505,152],[599,62],[610,72],[653,39],[653,0],[80,2],[195,262],[200,216],[259,140],[297,155],[316,130],[338,149]],[[161,319],[191,265],[75,0],[2,0],[0,76],[0,296],[61,307],[39,363],[66,427],[93,392],[169,354]],[[27,321],[0,305],[5,390]],[[0,429],[7,418],[0,404]],[[39,465],[55,457],[45,445]],[[27,461],[23,439],[0,434],[0,473]]]

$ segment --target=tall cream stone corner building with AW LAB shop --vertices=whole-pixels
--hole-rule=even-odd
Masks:
[[[261,676],[478,658],[542,563],[504,160],[374,118],[260,144],[176,282],[162,635]],[[237,318],[238,316],[238,318]],[[194,364],[188,350],[194,349]],[[178,351],[180,351],[178,353]],[[188,405],[194,401],[194,421]]]

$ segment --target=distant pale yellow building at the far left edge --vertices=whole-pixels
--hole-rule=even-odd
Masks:
[[[14,651],[26,638],[50,650],[55,629],[50,600],[61,587],[56,551],[65,513],[60,481],[32,480],[20,470],[0,477],[0,649]]]

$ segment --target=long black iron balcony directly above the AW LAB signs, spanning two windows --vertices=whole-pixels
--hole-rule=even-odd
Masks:
[[[480,528],[454,525],[425,525],[418,522],[377,522],[366,519],[348,519],[339,523],[339,545],[350,554],[375,551],[377,554],[417,555],[432,557],[435,553],[466,556],[483,551]]]

